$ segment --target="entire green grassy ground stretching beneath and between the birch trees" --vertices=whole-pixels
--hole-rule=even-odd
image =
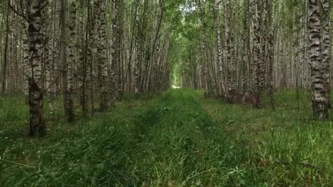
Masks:
[[[173,89],[74,124],[59,98],[39,139],[23,98],[1,98],[0,187],[333,187],[333,118],[311,118],[309,93],[298,107],[276,93],[275,111],[202,95]]]

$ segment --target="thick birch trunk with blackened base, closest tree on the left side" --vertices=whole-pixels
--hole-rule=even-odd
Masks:
[[[29,77],[29,106],[30,106],[30,136],[45,136],[46,127],[43,117],[43,90],[41,84],[41,64],[44,36],[43,30],[45,0],[27,1],[27,19],[29,22],[29,51],[31,55],[29,64],[31,76]]]

